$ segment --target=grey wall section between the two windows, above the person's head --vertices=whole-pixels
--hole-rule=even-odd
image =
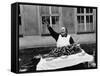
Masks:
[[[62,7],[62,24],[68,29],[69,33],[75,33],[74,8]]]

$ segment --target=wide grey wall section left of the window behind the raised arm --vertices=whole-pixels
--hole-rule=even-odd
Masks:
[[[21,18],[24,36],[39,34],[37,6],[21,5]]]

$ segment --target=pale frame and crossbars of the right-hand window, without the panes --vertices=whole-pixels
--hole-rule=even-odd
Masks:
[[[81,8],[81,7],[80,7]],[[83,8],[83,7],[82,7]],[[94,9],[92,8],[92,13],[86,13],[86,8],[84,8],[84,13],[77,13],[77,8],[75,8],[75,33],[76,34],[87,34],[87,33],[94,33]],[[77,17],[78,16],[84,16],[84,32],[79,32],[78,31],[78,21],[77,21]],[[87,22],[86,22],[86,16],[93,16],[93,30],[92,31],[88,31],[87,30]]]

